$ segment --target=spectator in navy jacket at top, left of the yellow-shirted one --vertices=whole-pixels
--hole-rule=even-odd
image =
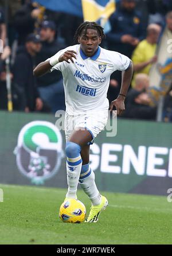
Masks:
[[[107,34],[108,49],[128,57],[146,34],[142,17],[135,8],[135,0],[122,0],[110,17],[111,32]]]

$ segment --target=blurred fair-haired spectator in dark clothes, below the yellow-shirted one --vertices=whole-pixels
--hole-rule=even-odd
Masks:
[[[151,99],[147,93],[149,80],[146,74],[139,73],[135,77],[135,87],[127,94],[126,110],[123,117],[133,119],[153,119],[157,115],[157,107],[149,106]]]

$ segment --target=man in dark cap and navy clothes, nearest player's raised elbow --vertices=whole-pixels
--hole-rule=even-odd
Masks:
[[[43,103],[33,76],[34,57],[40,49],[39,36],[29,34],[26,38],[25,46],[21,46],[18,49],[13,66],[14,83],[18,85],[22,95],[19,110],[24,110],[26,113],[43,111]]]

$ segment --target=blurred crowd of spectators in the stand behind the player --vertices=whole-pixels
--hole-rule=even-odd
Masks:
[[[46,10],[30,0],[9,0],[7,14],[8,21],[5,0],[0,0],[0,109],[7,110],[10,77],[13,110],[65,110],[61,73],[36,78],[33,68],[60,49],[76,44],[73,36],[83,19]],[[102,46],[130,57],[134,63],[122,117],[156,120],[161,113],[162,121],[172,122],[172,1],[120,0],[110,26]],[[120,83],[121,72],[114,72],[108,90],[110,102],[118,96]]]

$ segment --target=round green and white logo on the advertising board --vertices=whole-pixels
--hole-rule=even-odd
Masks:
[[[64,156],[61,133],[53,123],[30,122],[19,132],[14,153],[19,171],[33,184],[44,184],[60,168]]]

